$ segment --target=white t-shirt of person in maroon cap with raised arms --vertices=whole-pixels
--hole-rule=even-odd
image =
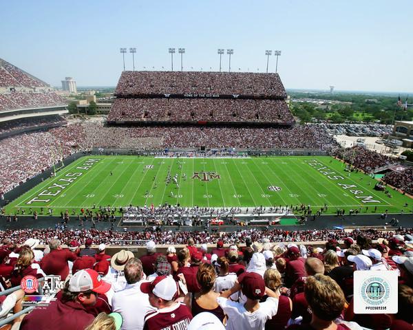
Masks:
[[[218,304],[228,316],[226,330],[264,330],[265,322],[277,314],[278,299],[269,297],[260,308],[250,313],[244,304],[224,297],[217,298]]]

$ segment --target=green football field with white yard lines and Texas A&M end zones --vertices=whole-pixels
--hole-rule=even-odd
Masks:
[[[167,184],[168,173],[171,180]],[[174,183],[177,178],[178,184]],[[361,212],[412,212],[413,200],[377,181],[344,171],[327,157],[160,158],[91,156],[77,159],[6,206],[6,214],[54,214],[96,206],[231,207],[310,205]],[[405,203],[408,206],[405,206]]]

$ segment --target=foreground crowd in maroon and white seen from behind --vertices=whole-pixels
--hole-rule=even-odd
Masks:
[[[318,247],[278,241],[278,236],[290,237],[282,230],[232,233],[226,247],[229,233],[217,234],[207,241],[213,248],[202,243],[204,233],[182,235],[180,248],[160,233],[167,252],[158,252],[156,241],[146,236],[139,258],[129,249],[111,256],[109,236],[96,232],[25,233],[2,239],[2,283],[17,286],[23,276],[53,275],[65,284],[55,301],[17,318],[21,330],[51,325],[63,330],[413,329],[410,230],[337,235],[321,230],[315,234],[324,241]],[[38,246],[44,239],[42,251]],[[357,270],[392,271],[399,277],[394,314],[354,313]],[[0,317],[13,307],[21,310],[25,293],[13,295],[1,301]]]

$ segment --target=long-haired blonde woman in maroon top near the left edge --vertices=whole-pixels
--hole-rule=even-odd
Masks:
[[[10,283],[13,287],[20,285],[24,276],[32,275],[36,278],[42,278],[46,274],[41,270],[38,263],[34,263],[34,253],[28,246],[23,246],[19,253],[16,265],[10,277]]]

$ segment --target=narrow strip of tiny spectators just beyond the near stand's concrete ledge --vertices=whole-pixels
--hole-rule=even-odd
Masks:
[[[61,240],[63,244],[70,244],[72,239],[84,242],[86,239],[94,239],[94,241],[104,242],[109,245],[138,245],[137,242],[154,241],[156,244],[184,244],[190,237],[193,237],[200,244],[213,244],[216,241],[222,241],[226,244],[244,243],[248,237],[253,241],[262,241],[264,238],[271,242],[313,242],[313,241],[328,241],[335,239],[343,240],[346,236],[357,236],[362,234],[368,239],[377,240],[380,237],[390,239],[395,234],[412,234],[412,229],[399,229],[395,232],[381,230],[354,230],[348,232],[346,230],[282,230],[282,229],[243,229],[235,232],[209,232],[209,231],[184,231],[184,230],[161,230],[161,231],[114,231],[114,230],[96,230],[78,229],[78,230],[62,230],[62,229],[24,229],[24,230],[5,230],[0,231],[0,239],[10,238],[15,243],[22,244],[30,237],[36,237],[41,244],[46,245],[52,237]]]

